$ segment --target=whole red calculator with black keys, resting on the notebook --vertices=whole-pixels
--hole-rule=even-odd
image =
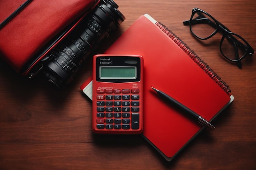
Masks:
[[[103,134],[143,131],[143,57],[94,55],[92,130]]]

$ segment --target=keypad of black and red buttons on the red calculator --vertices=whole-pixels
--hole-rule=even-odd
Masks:
[[[139,129],[139,89],[97,89],[97,128]]]

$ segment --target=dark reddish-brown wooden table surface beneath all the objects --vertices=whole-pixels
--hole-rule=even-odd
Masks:
[[[255,170],[255,56],[242,60],[243,68],[239,69],[220,54],[220,33],[208,41],[198,41],[182,21],[190,18],[193,7],[198,7],[256,49],[256,1],[115,2],[126,20],[97,53],[103,53],[139,16],[150,14],[229,84],[235,99],[216,120],[216,130],[204,130],[168,163],[139,135],[93,134],[92,102],[79,88],[92,74],[92,60],[63,90],[40,76],[21,77],[0,60],[0,170]]]

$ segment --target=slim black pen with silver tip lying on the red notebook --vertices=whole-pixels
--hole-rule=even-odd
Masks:
[[[153,87],[151,87],[153,88]],[[210,128],[211,130],[216,129],[209,121],[207,121],[206,119],[204,119],[202,116],[198,115],[197,113],[195,113],[193,110],[191,110],[190,108],[184,106],[183,104],[181,104],[180,102],[178,102],[177,100],[173,99],[171,96],[167,95],[166,93],[159,91],[156,88],[153,88],[154,91],[157,92],[157,94],[159,94],[160,96],[164,97],[165,99],[167,99],[169,102],[174,103],[175,105],[179,106],[180,108],[182,108],[184,111],[186,111],[186,113],[189,113],[191,116],[193,116],[200,124],[207,126],[208,128]]]

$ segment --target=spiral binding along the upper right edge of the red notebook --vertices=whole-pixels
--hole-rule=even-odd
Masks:
[[[164,24],[161,22],[155,23],[166,35],[168,35],[180,48],[187,54],[191,59],[200,66],[204,70],[214,82],[216,82],[229,96],[231,95],[231,89],[210,67],[207,65],[204,60],[202,60],[193,50],[186,45],[175,33],[169,30]]]

